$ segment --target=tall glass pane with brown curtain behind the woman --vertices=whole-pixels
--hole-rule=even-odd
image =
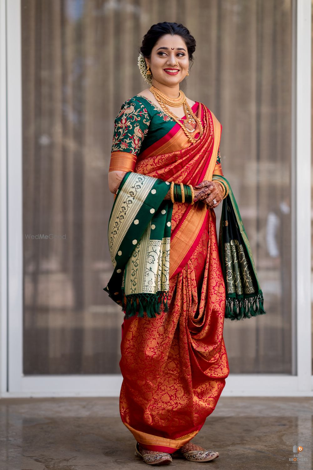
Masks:
[[[114,118],[147,87],[138,47],[162,21],[183,23],[197,40],[181,88],[223,126],[221,163],[265,297],[267,315],[225,321],[231,373],[294,373],[291,0],[21,6],[24,374],[119,373],[122,312],[102,290],[112,272],[107,172]],[[56,237],[29,238],[40,233]]]

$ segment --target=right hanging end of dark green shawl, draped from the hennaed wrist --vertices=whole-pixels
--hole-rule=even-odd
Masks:
[[[263,293],[236,199],[229,181],[221,175],[213,175],[212,180],[219,179],[229,186],[229,194],[223,200],[219,233],[219,253],[226,288],[225,318],[244,320],[266,313]]]

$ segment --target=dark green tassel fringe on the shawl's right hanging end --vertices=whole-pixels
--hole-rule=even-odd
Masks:
[[[264,315],[266,312],[263,303],[262,293],[249,298],[226,298],[225,318],[244,320],[245,318],[252,318],[257,315]]]

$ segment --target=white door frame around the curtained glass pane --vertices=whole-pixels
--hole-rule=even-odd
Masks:
[[[23,376],[21,1],[0,0],[0,397],[118,396],[119,375]],[[293,317],[298,375],[230,374],[223,396],[313,396],[311,0],[293,0]],[[297,80],[295,80],[297,78]],[[298,314],[295,314],[298,313]]]

